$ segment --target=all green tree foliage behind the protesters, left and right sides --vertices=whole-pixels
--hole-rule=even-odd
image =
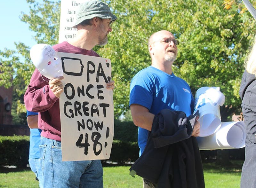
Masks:
[[[30,13],[21,21],[35,31],[38,43],[58,41],[60,1],[27,0]],[[111,59],[115,117],[129,109],[129,85],[132,77],[151,64],[148,37],[158,30],[171,31],[178,40],[178,57],[173,72],[186,80],[195,94],[203,86],[219,86],[226,96],[221,108],[223,120],[240,112],[238,95],[243,62],[255,35],[255,20],[238,0],[110,0],[118,19],[104,47],[96,47],[102,57]],[[256,1],[251,1],[255,5]],[[16,43],[16,51],[0,51],[0,85],[10,87],[23,79],[28,85],[34,70],[29,48]],[[18,54],[18,55],[17,55]],[[20,55],[24,61],[21,61]],[[14,79],[13,79],[14,78]],[[13,79],[13,82],[12,82]],[[26,88],[19,88],[20,94]]]

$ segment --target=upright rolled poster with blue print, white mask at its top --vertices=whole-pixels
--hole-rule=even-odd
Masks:
[[[224,102],[225,96],[219,87],[201,87],[196,91],[194,113],[199,111],[200,137],[207,137],[220,129],[220,106]]]

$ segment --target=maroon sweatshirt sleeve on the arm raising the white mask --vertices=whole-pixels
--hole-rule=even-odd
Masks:
[[[48,82],[49,79],[35,69],[24,95],[24,103],[28,111],[47,111],[59,99],[49,88]]]

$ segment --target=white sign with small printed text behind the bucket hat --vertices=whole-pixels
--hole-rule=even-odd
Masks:
[[[76,36],[77,29],[72,27],[74,26],[76,9],[82,2],[84,0],[61,0],[59,43]]]

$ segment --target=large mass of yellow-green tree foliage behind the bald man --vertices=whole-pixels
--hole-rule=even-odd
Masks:
[[[224,121],[239,112],[238,90],[255,20],[241,1],[232,3],[226,7],[218,0],[112,0],[110,7],[118,20],[108,48],[100,51],[109,54],[116,85],[122,87],[121,98],[116,99],[124,100],[128,108],[132,76],[150,64],[147,39],[165,29],[180,40],[174,74],[186,80],[194,94],[203,86],[219,86],[226,96],[221,108]]]

